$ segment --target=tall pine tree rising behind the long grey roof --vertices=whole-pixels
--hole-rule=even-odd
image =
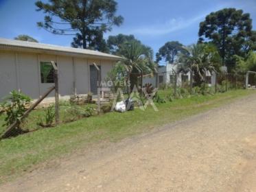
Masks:
[[[45,13],[38,26],[59,35],[71,35],[73,47],[106,51],[103,34],[113,25],[121,25],[122,16],[117,16],[115,0],[49,0],[36,1],[37,11]]]

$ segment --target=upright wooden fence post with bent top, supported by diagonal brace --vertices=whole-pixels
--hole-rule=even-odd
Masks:
[[[58,91],[58,68],[54,61],[51,61],[54,67],[54,84],[55,84],[55,125],[60,122],[60,108],[59,108],[59,91]]]

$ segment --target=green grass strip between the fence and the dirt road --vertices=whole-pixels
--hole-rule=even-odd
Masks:
[[[216,108],[252,93],[255,91],[237,90],[177,99],[172,102],[167,101],[165,104],[156,104],[159,112],[155,112],[152,107],[148,107],[145,111],[137,108],[124,113],[109,112],[105,115],[64,123],[56,128],[41,128],[12,139],[4,139],[0,141],[0,183],[19,176],[28,169],[33,169],[34,165],[45,160],[71,153],[75,149],[88,147],[100,141],[119,141],[127,136]],[[169,93],[159,91],[159,95],[166,97]],[[36,125],[33,120],[36,115],[28,117],[27,121],[31,121],[28,125]],[[3,123],[3,117],[0,119],[1,122]]]

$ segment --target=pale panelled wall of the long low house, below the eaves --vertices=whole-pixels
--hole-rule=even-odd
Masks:
[[[88,60],[71,56],[0,51],[0,101],[12,90],[20,90],[37,99],[52,83],[40,82],[40,62],[54,61],[59,70],[60,96],[90,92],[89,64],[95,62],[102,68],[102,80],[113,67],[109,60]],[[54,97],[52,92],[49,97]]]

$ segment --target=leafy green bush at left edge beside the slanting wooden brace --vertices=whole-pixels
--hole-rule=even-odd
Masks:
[[[3,126],[8,126],[14,123],[15,121],[18,121],[17,128],[19,128],[21,124],[21,117],[23,116],[26,108],[25,106],[27,104],[30,104],[30,97],[27,95],[23,95],[19,91],[12,91],[10,92],[10,95],[5,97],[3,99],[3,103],[1,104],[1,108],[5,112],[3,114],[6,114],[6,117],[4,119],[5,123]]]

